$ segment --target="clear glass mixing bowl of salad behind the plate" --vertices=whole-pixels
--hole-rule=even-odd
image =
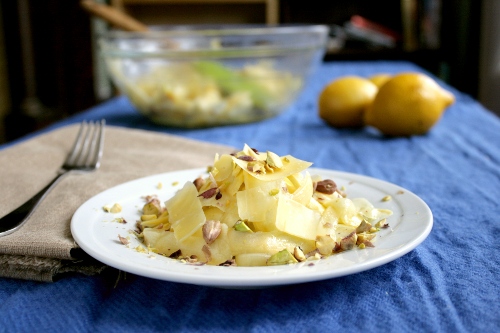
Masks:
[[[322,61],[323,25],[157,26],[99,39],[111,79],[157,124],[197,128],[285,111]]]

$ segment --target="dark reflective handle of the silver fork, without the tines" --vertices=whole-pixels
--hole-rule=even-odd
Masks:
[[[28,199],[21,206],[0,218],[0,237],[6,236],[17,229],[19,229],[24,222],[26,222],[38,204],[45,198],[47,193],[54,187],[54,185],[61,180],[62,176],[67,174],[67,171],[59,173],[47,186],[40,190],[33,197]]]

